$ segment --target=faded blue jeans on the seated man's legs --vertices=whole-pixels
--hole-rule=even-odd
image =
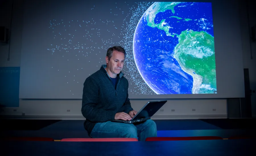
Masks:
[[[90,134],[92,138],[138,138],[145,141],[148,137],[156,137],[156,123],[149,119],[142,123],[118,123],[107,121],[96,123]]]

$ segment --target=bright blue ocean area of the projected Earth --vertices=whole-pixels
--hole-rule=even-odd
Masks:
[[[165,19],[163,26],[168,25],[171,34],[179,35],[188,29],[205,31],[214,36],[211,3],[180,3],[174,11],[157,13],[154,23],[159,24]],[[191,94],[193,77],[184,72],[173,58],[178,37],[168,36],[164,30],[147,24],[141,18],[133,47],[136,65],[144,81],[157,94]]]

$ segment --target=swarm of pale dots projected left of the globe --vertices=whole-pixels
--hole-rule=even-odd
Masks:
[[[80,73],[86,72],[88,68],[91,69],[89,71],[92,71],[92,69],[98,70],[100,65],[106,64],[105,56],[107,49],[114,45],[120,45],[127,52],[123,72],[130,83],[130,91],[134,94],[155,94],[147,86],[137,70],[133,58],[132,44],[137,23],[146,9],[152,5],[152,2],[133,3],[132,5],[125,2],[125,5],[129,7],[129,12],[119,8],[117,3],[115,4],[116,6],[109,9],[109,13],[114,15],[114,17],[116,16],[115,18],[126,15],[122,20],[121,27],[118,26],[115,18],[90,18],[90,20],[70,21],[64,19],[51,20],[49,22],[49,29],[53,34],[53,42],[50,48],[48,48],[50,54],[57,56],[60,59],[58,60],[59,62],[77,63],[78,65],[76,69],[69,71],[54,66],[51,68],[57,72],[64,73],[63,78],[67,80],[68,89],[74,83],[83,84],[86,77],[79,77]],[[94,5],[91,10],[95,10],[96,7]],[[92,67],[88,67],[88,65],[92,65]],[[93,67],[94,65],[96,67]],[[87,76],[91,74],[87,73]],[[72,79],[70,79],[71,77]],[[71,89],[68,89],[68,91],[71,95],[74,95]]]

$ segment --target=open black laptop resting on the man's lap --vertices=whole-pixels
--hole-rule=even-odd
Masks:
[[[131,120],[111,120],[112,122],[121,123],[135,123],[142,122],[150,119],[165,103],[167,100],[161,101],[148,101],[143,108]]]

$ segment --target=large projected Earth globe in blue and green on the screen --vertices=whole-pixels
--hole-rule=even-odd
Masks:
[[[136,27],[133,55],[156,94],[216,93],[211,3],[153,3]]]

